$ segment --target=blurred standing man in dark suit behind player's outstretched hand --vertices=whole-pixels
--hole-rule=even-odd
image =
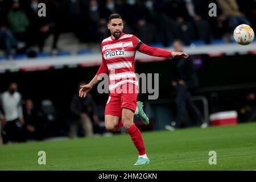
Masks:
[[[175,40],[175,51],[183,51],[181,42]],[[191,94],[193,89],[199,86],[199,81],[196,75],[196,71],[193,67],[193,60],[190,57],[188,59],[173,59],[174,61],[174,81],[172,86],[177,90],[176,96],[176,125],[175,128],[180,127],[192,127],[203,125],[203,117],[200,110],[191,100]],[[189,117],[191,115],[191,117]],[[202,127],[205,127],[205,123]],[[166,129],[174,130],[172,126],[166,126]]]

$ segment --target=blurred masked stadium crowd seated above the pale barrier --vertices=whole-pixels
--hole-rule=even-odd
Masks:
[[[40,2],[46,4],[46,17],[38,16]],[[209,16],[210,3],[216,3],[217,16]],[[234,27],[242,23],[256,29],[254,0],[0,0],[0,48],[8,58],[14,53],[33,57],[43,52],[52,34],[54,52],[63,32],[73,32],[82,43],[99,43],[109,36],[106,23],[112,13],[121,14],[127,34],[164,47],[175,39],[187,45],[230,41]]]

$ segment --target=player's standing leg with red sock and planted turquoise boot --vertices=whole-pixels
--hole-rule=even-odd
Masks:
[[[133,123],[134,113],[130,109],[123,108],[122,109],[122,122],[125,127],[127,133],[130,135],[131,140],[134,143],[134,146],[137,148],[139,152],[139,159],[134,164],[134,166],[149,164],[150,160],[147,158],[146,150],[144,147],[141,131],[135,126]]]

